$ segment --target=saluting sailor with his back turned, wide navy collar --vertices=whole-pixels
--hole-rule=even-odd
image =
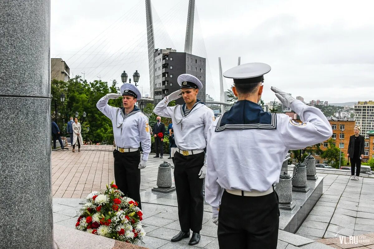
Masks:
[[[270,66],[247,63],[226,71],[238,101],[208,131],[205,199],[218,225],[220,249],[275,249],[278,240],[278,183],[288,150],[327,140],[331,125],[317,108],[272,87],[283,105],[303,121],[264,112],[258,101]],[[226,143],[222,143],[225,140]]]

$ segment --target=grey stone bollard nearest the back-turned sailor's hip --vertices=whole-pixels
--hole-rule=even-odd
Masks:
[[[295,203],[292,202],[292,183],[291,177],[284,172],[279,176],[279,183],[276,186],[276,192],[279,197],[279,208],[292,210]]]

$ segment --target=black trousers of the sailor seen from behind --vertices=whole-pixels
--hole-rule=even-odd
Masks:
[[[278,227],[276,192],[264,196],[223,192],[217,232],[220,249],[276,249]]]

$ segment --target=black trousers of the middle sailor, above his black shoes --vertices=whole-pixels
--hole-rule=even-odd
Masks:
[[[178,201],[178,217],[182,231],[200,232],[203,223],[203,182],[199,172],[204,153],[183,156],[174,153],[174,181]]]

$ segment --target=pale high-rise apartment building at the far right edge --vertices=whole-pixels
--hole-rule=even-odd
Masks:
[[[354,120],[356,125],[361,128],[361,135],[369,138],[367,133],[374,130],[374,101],[359,101],[355,105]]]

